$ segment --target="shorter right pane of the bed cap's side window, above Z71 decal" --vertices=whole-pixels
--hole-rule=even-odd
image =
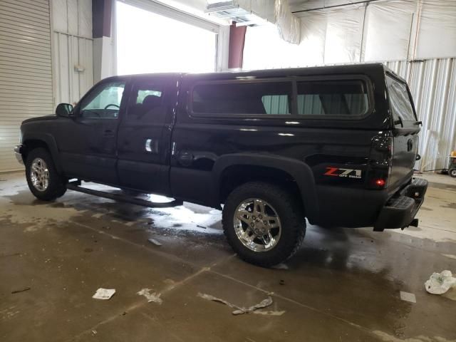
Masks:
[[[369,103],[366,84],[361,80],[297,82],[299,115],[366,114]]]

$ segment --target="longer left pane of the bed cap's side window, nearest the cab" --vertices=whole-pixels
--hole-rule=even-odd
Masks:
[[[195,86],[192,110],[202,114],[291,114],[291,82],[208,83]]]

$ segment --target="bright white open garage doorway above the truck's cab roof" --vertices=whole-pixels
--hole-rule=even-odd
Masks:
[[[216,35],[117,1],[118,74],[215,70]]]

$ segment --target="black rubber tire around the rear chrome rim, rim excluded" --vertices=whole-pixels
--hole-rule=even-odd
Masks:
[[[276,245],[261,252],[244,246],[234,228],[237,207],[247,199],[261,199],[274,208],[281,222],[281,235]],[[293,256],[306,234],[306,219],[299,199],[291,192],[266,182],[248,182],[227,197],[222,214],[224,234],[234,252],[250,264],[271,267]],[[247,229],[246,229],[247,230]]]

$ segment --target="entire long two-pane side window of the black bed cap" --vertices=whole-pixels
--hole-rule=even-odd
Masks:
[[[366,79],[208,81],[191,92],[192,113],[280,118],[361,118],[371,100]]]

